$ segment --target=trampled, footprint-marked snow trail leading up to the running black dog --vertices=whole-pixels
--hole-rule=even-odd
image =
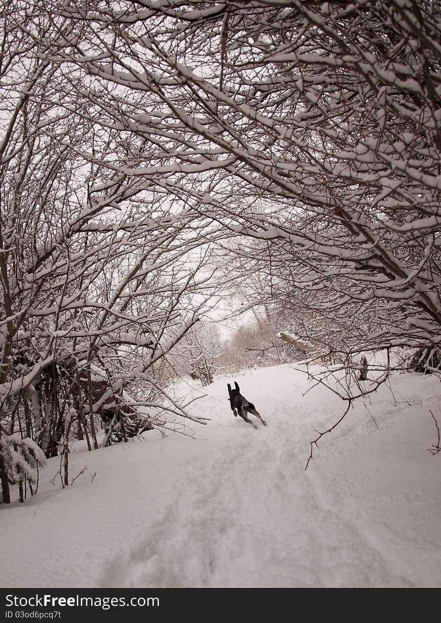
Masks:
[[[300,404],[292,404],[290,392],[267,401],[273,417],[263,410],[270,426],[257,434],[240,419],[222,421],[230,434],[174,483],[174,502],[102,585],[415,585],[379,547],[381,526],[369,526],[351,503],[344,473],[331,487],[326,471],[311,465],[305,473],[302,433],[311,422],[287,417]],[[390,526],[382,532],[385,546]]]

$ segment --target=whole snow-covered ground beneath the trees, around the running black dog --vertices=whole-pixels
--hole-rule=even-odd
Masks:
[[[232,415],[234,380],[267,428]],[[392,377],[305,472],[315,429],[345,408],[310,387],[289,365],[220,379],[193,403],[211,417],[196,439],[78,445],[70,475],[87,470],[65,489],[51,459],[36,497],[0,506],[1,586],[441,586],[439,380]]]

